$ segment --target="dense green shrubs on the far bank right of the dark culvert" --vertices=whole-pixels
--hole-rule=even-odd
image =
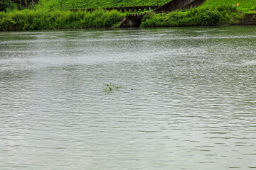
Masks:
[[[168,14],[151,13],[144,16],[142,27],[216,26],[235,23],[241,17],[242,13],[233,6],[201,6]]]

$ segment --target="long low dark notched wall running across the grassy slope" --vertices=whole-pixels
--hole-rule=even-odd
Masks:
[[[112,8],[102,8],[105,11],[117,10],[121,13],[129,12],[129,13],[137,13],[142,11],[149,11],[152,9],[159,8],[160,6],[125,6],[125,7],[112,7]],[[87,9],[73,9],[71,11],[95,11],[99,8],[87,8]]]

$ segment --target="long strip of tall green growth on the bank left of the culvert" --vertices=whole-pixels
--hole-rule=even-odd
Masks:
[[[107,28],[118,25],[124,14],[117,11],[11,11],[0,13],[0,30]]]

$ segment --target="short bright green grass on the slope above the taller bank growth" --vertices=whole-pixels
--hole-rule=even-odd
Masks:
[[[170,0],[41,0],[36,9],[70,10],[78,8],[105,8],[118,6],[163,5]],[[254,10],[255,0],[206,0],[203,6],[224,6],[239,3],[241,11]]]

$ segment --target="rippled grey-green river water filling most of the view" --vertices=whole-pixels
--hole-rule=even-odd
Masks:
[[[256,168],[255,73],[255,26],[1,32],[0,169]]]

